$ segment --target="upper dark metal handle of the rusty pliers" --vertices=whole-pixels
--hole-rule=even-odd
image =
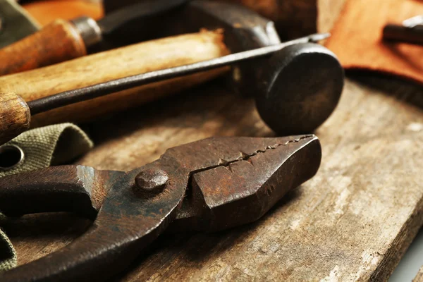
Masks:
[[[121,171],[89,166],[52,166],[0,178],[0,210],[7,216],[73,212],[94,219]]]

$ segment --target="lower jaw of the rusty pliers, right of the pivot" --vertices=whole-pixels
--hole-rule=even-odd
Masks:
[[[274,138],[267,144],[194,173],[171,229],[210,232],[256,221],[317,173],[321,147],[316,136]]]

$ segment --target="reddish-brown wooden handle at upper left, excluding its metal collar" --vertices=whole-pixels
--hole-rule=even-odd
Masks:
[[[66,20],[55,20],[39,32],[0,49],[0,75],[49,66],[85,54],[85,44],[75,27]]]

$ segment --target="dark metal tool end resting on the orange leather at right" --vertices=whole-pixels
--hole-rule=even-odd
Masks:
[[[423,16],[404,20],[402,25],[385,25],[384,40],[423,45]]]

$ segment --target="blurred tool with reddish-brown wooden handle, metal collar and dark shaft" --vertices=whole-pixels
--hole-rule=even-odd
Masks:
[[[135,19],[144,21],[137,26],[138,34],[148,33],[149,18],[184,4],[188,0],[148,0],[127,6],[98,22],[80,17],[68,22],[56,20],[34,35],[0,50],[0,75],[18,73],[33,68],[75,59],[87,54],[87,48],[108,37],[114,37],[121,28]],[[142,38],[142,37],[138,37]]]

